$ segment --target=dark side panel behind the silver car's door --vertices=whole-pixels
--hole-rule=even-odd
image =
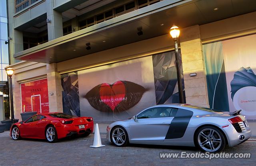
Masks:
[[[175,117],[172,119],[165,139],[177,139],[183,137],[192,115],[192,111],[178,109]]]

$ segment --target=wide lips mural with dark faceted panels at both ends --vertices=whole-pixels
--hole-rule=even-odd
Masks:
[[[110,122],[178,103],[174,51],[62,74],[64,112]]]

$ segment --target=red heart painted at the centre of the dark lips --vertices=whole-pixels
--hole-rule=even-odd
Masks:
[[[125,93],[125,86],[122,81],[117,81],[112,85],[103,83],[100,86],[100,100],[108,105],[112,111],[124,100]]]

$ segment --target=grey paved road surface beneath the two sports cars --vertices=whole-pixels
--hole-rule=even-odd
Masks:
[[[254,166],[256,141],[227,147],[228,153],[251,153],[251,158],[160,158],[160,152],[196,153],[193,147],[129,145],[116,147],[102,138],[101,148],[90,148],[93,136],[63,139],[58,143],[44,140],[13,141],[0,135],[0,166]]]

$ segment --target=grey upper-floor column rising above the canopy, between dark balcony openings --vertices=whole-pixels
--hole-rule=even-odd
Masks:
[[[53,8],[54,1],[46,0],[47,18],[50,20],[50,23],[47,23],[49,41],[63,36],[62,14]]]

